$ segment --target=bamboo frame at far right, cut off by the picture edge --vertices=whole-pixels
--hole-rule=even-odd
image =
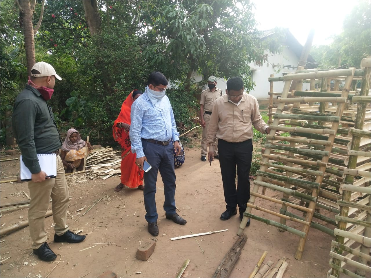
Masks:
[[[354,131],[359,130],[359,132],[351,133],[353,135],[352,141],[351,141],[352,142],[351,150],[355,152],[360,151],[359,146],[361,142],[361,136],[368,133],[368,132],[363,132],[362,129],[364,126],[365,112],[366,112],[366,107],[367,107],[366,103],[370,101],[370,97],[368,97],[368,91],[370,89],[370,81],[371,81],[371,59],[370,58],[363,59],[361,62],[361,66],[362,64],[365,64],[367,67],[365,67],[364,76],[362,77],[361,92],[360,92],[360,96],[355,97],[355,99],[353,100],[353,101],[358,102],[357,117],[355,120],[354,129],[351,129]],[[348,162],[349,171],[344,179],[344,182],[347,185],[343,186],[344,192],[342,193],[342,202],[339,202],[341,204],[340,214],[337,217],[337,219],[339,220],[339,223],[338,223],[338,229],[335,229],[335,235],[336,235],[335,241],[338,243],[338,245],[334,246],[334,248],[332,248],[330,252],[330,255],[332,257],[330,260],[330,265],[332,267],[331,275],[333,275],[334,277],[339,277],[340,272],[345,273],[350,277],[358,277],[359,275],[365,276],[366,272],[371,272],[371,268],[366,266],[367,260],[368,260],[367,258],[361,256],[359,257],[358,262],[352,261],[350,259],[345,260],[344,256],[342,256],[342,252],[345,250],[344,248],[341,248],[342,246],[344,246],[345,238],[350,238],[358,242],[360,241],[361,242],[360,250],[361,250],[361,253],[363,254],[368,255],[370,252],[370,247],[371,247],[371,225],[370,225],[371,216],[370,216],[370,213],[367,214],[367,219],[366,221],[363,221],[363,222],[362,220],[354,221],[348,217],[349,207],[351,207],[349,203],[351,202],[352,191],[357,190],[356,188],[354,188],[354,177],[352,175],[354,174],[365,175],[365,173],[361,173],[358,171],[355,171],[355,172],[351,171],[351,169],[355,169],[357,167],[357,159],[358,159],[357,155],[349,156],[349,162]],[[349,184],[353,186],[349,186]],[[362,189],[362,191],[364,191],[364,189]],[[370,198],[371,197],[368,196],[369,200]],[[368,206],[370,206],[370,201],[368,203]],[[358,206],[358,208],[360,207]],[[347,229],[348,223],[354,223],[354,222],[356,222],[356,224],[358,225],[363,225],[365,227],[364,236],[353,235],[352,233],[345,231]],[[350,254],[352,253],[350,252]],[[347,269],[342,268],[342,262],[347,262],[353,267],[356,267],[357,268],[356,273],[353,273]]]

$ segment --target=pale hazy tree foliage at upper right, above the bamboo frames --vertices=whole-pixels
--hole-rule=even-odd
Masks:
[[[313,48],[311,54],[320,67],[348,64],[359,67],[361,60],[371,55],[371,1],[360,0],[345,17],[343,31],[329,45]]]

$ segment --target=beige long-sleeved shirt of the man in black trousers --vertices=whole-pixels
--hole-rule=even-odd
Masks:
[[[263,134],[269,127],[260,115],[259,105],[254,96],[243,93],[238,106],[229,102],[228,95],[219,97],[215,101],[207,128],[209,152],[214,151],[216,138],[231,143],[253,138],[252,126]]]

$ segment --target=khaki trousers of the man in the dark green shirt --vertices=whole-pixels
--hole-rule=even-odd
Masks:
[[[49,207],[49,198],[52,198],[55,233],[63,235],[69,230],[69,226],[66,225],[69,195],[65,170],[59,155],[57,155],[56,160],[57,176],[55,179],[46,179],[43,182],[28,182],[31,197],[28,219],[33,249],[38,249],[47,241],[44,220]]]

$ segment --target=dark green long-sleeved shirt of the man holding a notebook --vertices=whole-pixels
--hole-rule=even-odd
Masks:
[[[41,171],[36,154],[52,153],[62,146],[52,108],[30,85],[16,98],[12,116],[13,134],[24,165],[33,174]]]

